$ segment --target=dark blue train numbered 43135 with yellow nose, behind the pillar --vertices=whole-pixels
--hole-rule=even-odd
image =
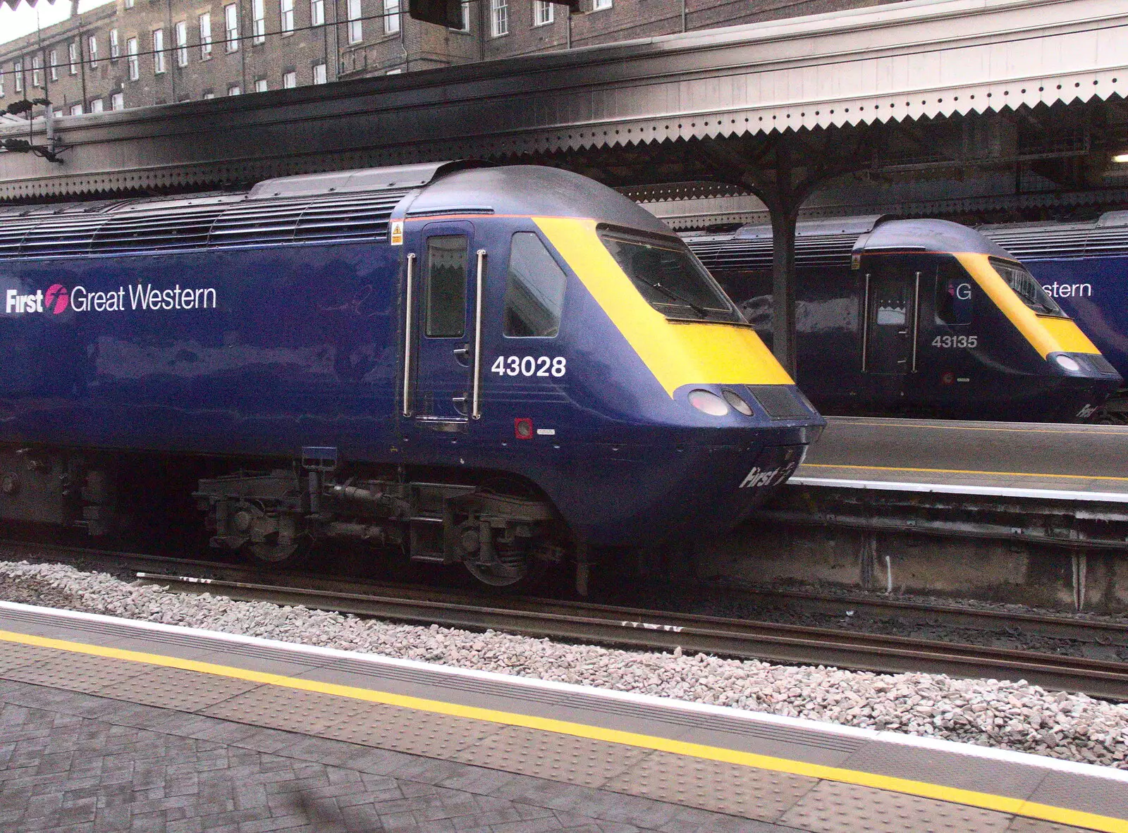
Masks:
[[[682,236],[772,338],[772,227]],[[881,215],[796,229],[796,381],[834,415],[1074,422],[1122,383],[1025,267],[977,231]]]

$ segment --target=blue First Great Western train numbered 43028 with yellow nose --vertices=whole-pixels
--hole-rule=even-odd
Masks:
[[[112,535],[173,494],[267,567],[340,539],[583,592],[825,425],[685,242],[546,167],[6,206],[0,298],[0,519]]]

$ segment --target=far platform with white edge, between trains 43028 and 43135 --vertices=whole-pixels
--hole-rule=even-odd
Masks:
[[[790,482],[1128,503],[1128,427],[827,417]]]

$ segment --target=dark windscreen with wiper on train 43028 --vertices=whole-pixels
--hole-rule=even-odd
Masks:
[[[724,290],[677,238],[601,228],[599,238],[642,296],[667,318],[744,324]]]

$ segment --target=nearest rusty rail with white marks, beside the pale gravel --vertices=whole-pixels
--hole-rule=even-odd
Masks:
[[[220,593],[403,622],[631,648],[680,647],[690,653],[876,672],[1024,679],[1050,689],[1128,699],[1128,663],[1084,657],[574,602],[513,600],[505,606],[483,606],[443,599],[435,591],[431,597],[405,597],[174,574],[139,573],[138,577],[179,592]]]

